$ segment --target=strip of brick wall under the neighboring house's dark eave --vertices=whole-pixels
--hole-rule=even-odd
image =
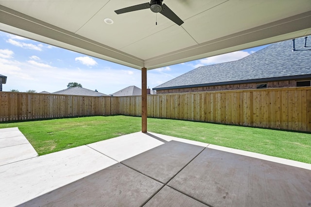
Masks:
[[[288,81],[271,81],[260,83],[248,83],[248,84],[231,84],[222,86],[203,86],[203,87],[190,87],[190,88],[176,88],[166,90],[156,90],[157,94],[164,93],[185,93],[185,92],[200,92],[200,91],[219,91],[219,90],[245,90],[256,89],[257,84],[267,84],[268,88],[277,87],[296,87],[296,82],[302,80],[288,80]]]

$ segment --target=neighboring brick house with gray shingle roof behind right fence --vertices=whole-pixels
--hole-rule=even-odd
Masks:
[[[274,43],[240,60],[202,66],[153,88],[157,94],[310,86],[311,36]]]

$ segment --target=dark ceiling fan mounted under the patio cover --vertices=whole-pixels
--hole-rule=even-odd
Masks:
[[[120,15],[120,14],[127,13],[127,12],[133,12],[137,10],[150,8],[150,10],[153,11],[154,13],[160,13],[164,15],[165,17],[171,19],[173,22],[175,22],[179,26],[182,23],[184,23],[183,20],[177,17],[177,15],[175,15],[175,13],[173,13],[173,11],[167,5],[165,5],[165,3],[162,4],[162,1],[163,0],[151,0],[150,3],[147,2],[147,3],[138,4],[135,6],[126,7],[123,9],[116,10],[115,12],[118,15]]]

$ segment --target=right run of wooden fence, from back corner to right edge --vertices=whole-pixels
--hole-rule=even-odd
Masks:
[[[148,117],[311,132],[311,87],[148,95]],[[119,112],[140,116],[140,97],[120,97]]]

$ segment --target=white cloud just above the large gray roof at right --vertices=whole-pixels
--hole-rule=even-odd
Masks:
[[[225,63],[225,62],[230,62],[234,60],[239,60],[243,57],[246,57],[247,55],[250,55],[250,53],[245,52],[245,51],[236,51],[236,52],[229,52],[226,54],[216,55],[213,57],[207,57],[207,58],[199,60],[199,63],[195,65],[194,68],[205,66],[205,65],[212,65],[212,64]]]

